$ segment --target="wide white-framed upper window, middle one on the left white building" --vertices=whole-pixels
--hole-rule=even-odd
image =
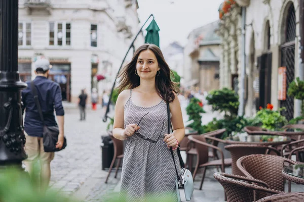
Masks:
[[[71,44],[70,23],[50,22],[49,27],[49,45],[65,46]]]

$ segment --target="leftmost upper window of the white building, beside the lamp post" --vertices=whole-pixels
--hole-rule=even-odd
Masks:
[[[20,22],[18,25],[18,45],[31,45],[31,23]]]

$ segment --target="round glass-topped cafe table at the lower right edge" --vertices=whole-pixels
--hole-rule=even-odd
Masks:
[[[284,179],[297,184],[304,184],[304,164],[296,164],[285,167],[282,170]]]

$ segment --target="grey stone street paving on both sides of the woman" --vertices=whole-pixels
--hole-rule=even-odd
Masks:
[[[81,201],[103,201],[110,192],[119,192],[121,172],[117,179],[112,172],[105,184],[107,171],[101,170],[101,135],[106,134],[107,123],[102,121],[102,109],[92,111],[87,109],[87,120],[79,121],[79,110],[74,104],[65,103],[65,135],[67,147],[56,153],[51,163],[52,177],[50,185]],[[182,110],[184,120],[187,119],[185,109]],[[110,117],[113,111],[110,111]],[[204,123],[212,120],[217,114],[203,114]],[[183,154],[184,155],[184,154]],[[192,201],[223,201],[223,189],[214,179],[209,169],[203,185],[203,191],[198,190],[200,174],[196,177],[195,191]]]

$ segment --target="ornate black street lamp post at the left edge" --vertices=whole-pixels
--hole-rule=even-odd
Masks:
[[[0,1],[0,169],[26,159],[18,72],[18,0]]]

